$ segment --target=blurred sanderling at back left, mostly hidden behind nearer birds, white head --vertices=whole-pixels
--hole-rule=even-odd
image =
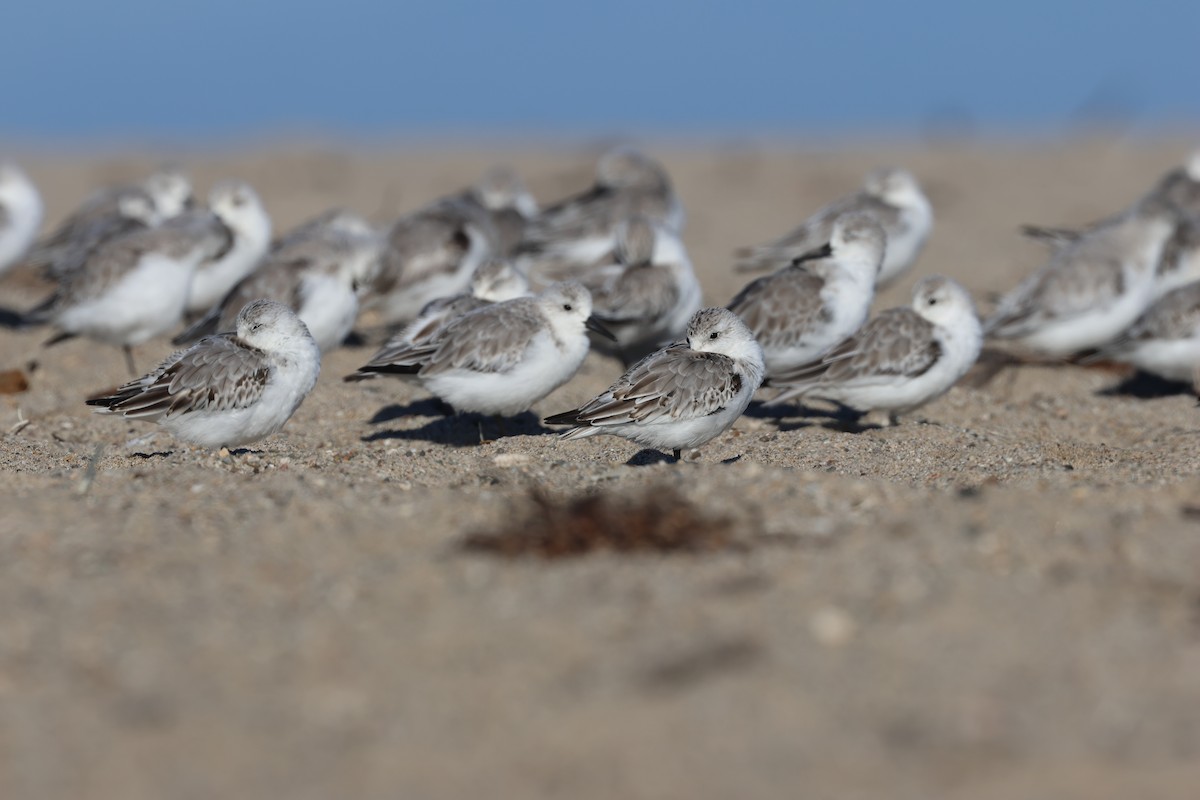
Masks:
[[[162,169],[140,184],[91,194],[25,259],[54,281],[80,269],[104,242],[179,216],[192,203],[192,184],[175,169]]]

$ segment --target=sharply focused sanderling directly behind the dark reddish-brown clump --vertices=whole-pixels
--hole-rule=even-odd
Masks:
[[[575,426],[563,439],[608,433],[661,450],[676,461],[732,427],[763,378],[762,348],[737,314],[702,308],[686,339],[646,356],[595,399],[546,417]]]

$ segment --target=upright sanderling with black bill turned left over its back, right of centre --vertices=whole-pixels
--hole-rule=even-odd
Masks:
[[[816,361],[863,326],[884,246],[872,216],[844,213],[823,247],[752,281],[730,301],[758,339],[769,378]]]

